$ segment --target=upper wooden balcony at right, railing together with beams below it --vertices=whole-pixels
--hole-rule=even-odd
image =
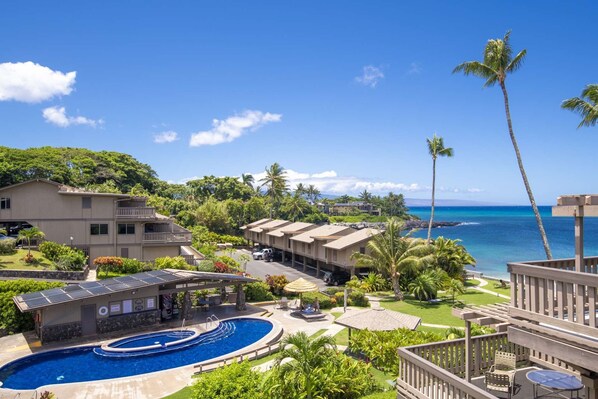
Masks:
[[[598,372],[598,258],[509,263],[509,340]]]

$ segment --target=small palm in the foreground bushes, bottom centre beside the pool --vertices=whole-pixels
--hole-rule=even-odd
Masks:
[[[283,338],[281,347],[284,349],[278,352],[275,366],[280,367],[283,377],[292,376],[302,379],[305,397],[311,399],[315,372],[329,361],[336,351],[334,338],[321,335],[310,339],[305,332],[300,331]],[[284,359],[291,359],[291,361],[283,364]]]

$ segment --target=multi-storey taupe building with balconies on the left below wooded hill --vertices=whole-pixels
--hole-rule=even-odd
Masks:
[[[191,248],[191,232],[148,207],[145,197],[96,193],[36,179],[0,188],[0,226],[28,223],[46,239],[89,255],[151,261],[201,254]]]

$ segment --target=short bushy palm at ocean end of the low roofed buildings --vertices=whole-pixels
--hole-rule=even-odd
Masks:
[[[403,299],[399,286],[401,274],[416,271],[434,261],[434,247],[425,240],[411,238],[411,233],[401,237],[404,223],[396,218],[388,219],[386,231],[373,236],[367,243],[369,253],[354,253],[357,266],[376,269],[392,282],[392,289],[397,300]]]

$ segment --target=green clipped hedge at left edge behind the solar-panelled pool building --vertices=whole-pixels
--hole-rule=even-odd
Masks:
[[[31,330],[34,327],[31,313],[21,313],[12,298],[26,294],[64,286],[64,283],[35,280],[0,281],[0,330],[9,334]]]

